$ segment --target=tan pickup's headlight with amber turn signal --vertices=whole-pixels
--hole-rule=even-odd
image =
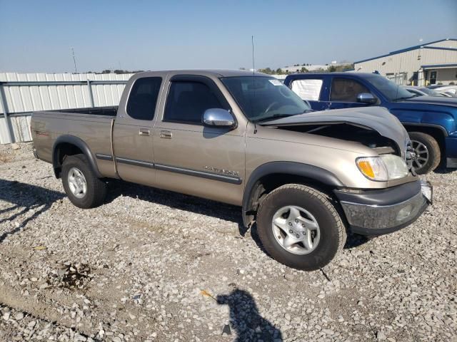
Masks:
[[[357,158],[356,164],[365,177],[370,180],[398,180],[408,175],[406,163],[396,155]]]

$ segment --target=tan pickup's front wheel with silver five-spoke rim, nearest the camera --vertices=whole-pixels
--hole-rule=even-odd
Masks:
[[[278,216],[278,213],[287,210],[284,208],[288,207],[300,208],[298,211],[301,216],[298,217],[298,222],[303,222],[305,224],[303,227],[312,227],[312,224],[308,225],[308,221],[303,220],[303,218],[311,219],[311,222],[315,222],[313,224],[318,225],[318,233],[316,231],[313,238],[313,248],[306,249],[306,244],[303,242],[293,244],[288,247],[290,249],[286,249],[281,244],[281,237],[283,237],[282,243],[285,243],[286,239],[284,237],[287,234],[283,234],[284,230],[278,229],[278,226],[273,224],[273,219],[276,217],[275,222],[277,219],[281,221],[281,226],[284,225],[282,220],[285,219],[286,227],[291,227],[291,221],[297,222],[297,219],[291,219],[292,209],[289,213],[284,212]],[[306,212],[302,211],[302,209]],[[298,223],[296,225],[294,224],[291,227],[294,229],[291,235],[298,237],[302,224]],[[288,232],[291,232],[291,229]],[[286,266],[305,271],[313,271],[326,266],[341,252],[346,243],[346,227],[328,197],[311,187],[299,184],[283,185],[266,195],[257,212],[257,233],[266,252],[273,259]],[[318,241],[316,240],[317,237]]]

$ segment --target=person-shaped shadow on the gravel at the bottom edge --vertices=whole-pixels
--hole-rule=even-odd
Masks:
[[[281,331],[260,316],[256,301],[247,291],[234,289],[230,294],[217,296],[216,300],[218,304],[230,307],[230,325],[236,331],[235,342],[283,341]]]

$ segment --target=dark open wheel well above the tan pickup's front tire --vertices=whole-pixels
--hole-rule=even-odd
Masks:
[[[308,185],[320,192],[323,192],[329,197],[333,197],[332,190],[334,189],[334,187],[326,185],[323,182],[319,182],[318,180],[313,180],[312,178],[303,176],[274,173],[271,175],[265,175],[261,177],[254,184],[251,190],[251,195],[248,199],[246,214],[251,215],[251,217],[253,217],[254,214],[257,212],[258,206],[262,202],[263,198],[265,198],[265,196],[273,190],[286,184]]]

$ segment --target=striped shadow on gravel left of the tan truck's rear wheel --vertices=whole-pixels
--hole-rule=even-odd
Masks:
[[[62,198],[64,198],[64,194],[54,190],[0,179],[0,200],[14,204],[12,207],[1,209],[0,214],[22,208],[19,212],[11,214],[4,219],[0,219],[0,224],[6,221],[12,221],[29,211],[33,211],[33,214],[24,217],[21,222],[16,222],[14,228],[0,232],[0,243],[3,242],[9,234],[15,234],[21,231],[21,229],[24,229],[32,219],[35,219],[41,213],[46,212],[56,200]]]

